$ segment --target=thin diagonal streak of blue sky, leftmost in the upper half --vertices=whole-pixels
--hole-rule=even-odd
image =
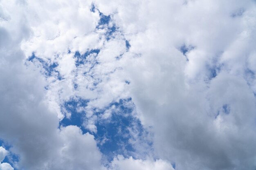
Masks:
[[[45,61],[43,59],[41,59],[40,57],[37,57],[35,55],[35,53],[32,53],[32,55],[28,58],[29,62],[40,62],[40,64],[42,64],[43,67],[43,75],[45,75],[46,77],[50,77],[50,76],[56,76],[59,80],[63,79],[61,74],[56,70],[58,63],[53,62],[51,63],[51,61]]]

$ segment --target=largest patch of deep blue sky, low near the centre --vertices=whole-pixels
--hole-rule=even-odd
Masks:
[[[145,129],[141,125],[139,119],[133,114],[134,107],[126,103],[131,102],[131,98],[120,99],[119,102],[111,103],[108,108],[115,106],[112,115],[109,119],[101,119],[97,122],[96,139],[105,140],[100,143],[99,148],[101,152],[108,155],[111,160],[115,155],[124,155],[124,157],[133,156],[135,152],[134,146],[129,142],[133,140],[132,133],[137,132],[137,138],[144,136]],[[107,109],[108,109],[107,108]],[[148,141],[148,145],[152,144]]]

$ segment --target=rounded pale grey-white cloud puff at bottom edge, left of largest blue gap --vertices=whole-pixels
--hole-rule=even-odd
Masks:
[[[105,170],[101,166],[101,153],[93,135],[82,134],[77,126],[67,126],[61,128],[60,137],[62,144],[58,150],[59,155],[52,159],[49,169]]]

